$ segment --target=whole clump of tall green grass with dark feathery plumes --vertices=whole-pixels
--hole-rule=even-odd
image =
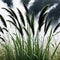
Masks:
[[[6,10],[7,12],[9,12],[8,17],[10,17],[12,21],[11,20],[7,20],[7,21],[12,23],[13,26],[15,26],[19,34],[14,33],[15,37],[12,34],[10,34],[9,31],[7,30],[8,27],[5,22],[4,17],[0,15],[0,19],[2,23],[4,24],[4,27],[0,28],[0,32],[2,32],[2,34],[4,35],[4,30],[7,31],[10,34],[11,41],[13,42],[13,44],[11,44],[11,42],[7,44],[5,38],[0,36],[0,39],[3,40],[3,43],[0,42],[0,46],[1,46],[0,60],[60,60],[60,58],[56,58],[56,57],[60,57],[58,54],[56,55],[60,42],[58,43],[56,47],[53,46],[54,49],[50,47],[51,45],[50,42],[52,40],[53,33],[60,26],[60,23],[54,28],[54,30],[51,28],[50,35],[47,38],[46,46],[44,43],[45,35],[47,34],[48,29],[52,22],[52,19],[50,19],[50,21],[47,22],[48,13],[45,13],[47,9],[49,8],[49,5],[46,5],[41,10],[41,13],[38,19],[38,28],[37,28],[36,36],[35,36],[35,27],[34,27],[34,22],[35,22],[34,15],[32,13],[31,15],[32,17],[31,17],[24,3],[23,5],[26,10],[25,16],[26,16],[26,21],[28,25],[27,28],[26,28],[24,16],[22,15],[21,11],[18,8],[17,8],[17,11],[18,11],[18,14],[19,14],[19,17],[21,19],[23,26],[20,24],[16,13],[12,9],[2,8]],[[42,39],[43,42],[41,43],[39,41],[38,36],[39,36],[39,32],[41,31],[41,27],[43,26],[43,24],[45,24],[44,37]],[[24,38],[23,30],[26,32],[26,35],[27,35],[26,40]]]

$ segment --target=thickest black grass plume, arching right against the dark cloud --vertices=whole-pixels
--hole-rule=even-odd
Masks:
[[[39,21],[38,21],[38,24],[39,24],[39,27],[38,27],[38,30],[40,31],[42,25],[43,25],[43,22],[44,22],[44,18],[46,16],[47,13],[45,13],[48,9],[49,5],[46,5],[42,10],[41,10],[41,13],[40,13],[40,16],[39,16]]]

